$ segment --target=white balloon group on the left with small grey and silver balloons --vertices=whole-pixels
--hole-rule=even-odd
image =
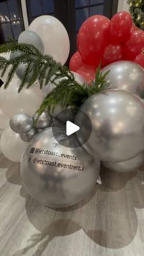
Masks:
[[[65,64],[70,52],[70,40],[65,27],[59,20],[49,15],[40,16],[31,23],[29,29],[29,31],[20,34],[18,43],[32,44],[41,53],[50,54],[54,59]],[[21,53],[5,53],[1,56],[10,59],[18,54]],[[10,68],[7,69],[4,76],[1,76],[0,73],[3,82],[6,81],[9,71]],[[20,161],[27,141],[39,130],[48,127],[52,123],[52,117],[43,113],[37,125],[33,126],[34,120],[31,116],[40,107],[43,101],[43,93],[37,82],[29,89],[26,89],[25,86],[21,93],[18,93],[21,80],[24,78],[24,71],[25,65],[21,64],[16,69],[16,75],[13,77],[9,88],[4,90],[4,86],[2,86],[0,92],[0,128],[5,129],[1,136],[1,150],[12,161]],[[31,76],[32,73],[27,76],[26,82],[30,81]],[[34,115],[35,118],[36,115]]]

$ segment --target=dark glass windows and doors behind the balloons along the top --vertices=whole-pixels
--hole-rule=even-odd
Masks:
[[[24,23],[21,2],[27,10]],[[52,15],[67,29],[71,56],[76,51],[76,35],[82,23],[96,14],[111,18],[117,7],[118,0],[0,0],[0,43],[9,42],[8,37],[18,40],[25,23],[27,28],[38,16]]]

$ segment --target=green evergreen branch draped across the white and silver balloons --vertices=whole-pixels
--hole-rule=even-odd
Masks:
[[[15,54],[15,57],[9,60],[0,56],[0,70],[2,75],[5,74],[9,66],[11,67],[7,81],[4,84],[5,89],[9,86],[16,68],[20,64],[25,64],[25,71],[18,92],[21,92],[24,85],[27,88],[32,86],[37,79],[40,83],[40,88],[46,86],[49,81],[56,85],[52,92],[43,100],[43,103],[41,103],[38,109],[38,116],[43,111],[49,111],[50,108],[55,108],[58,104],[62,108],[66,108],[69,105],[79,108],[88,97],[106,89],[105,79],[109,72],[101,73],[101,64],[99,64],[96,70],[95,81],[92,81],[90,86],[88,84],[81,85],[75,80],[74,74],[67,67],[56,62],[48,54],[41,54],[34,45],[10,42],[0,46],[0,53],[15,53],[16,51],[20,51],[21,54]],[[26,84],[26,77],[31,72],[31,80]],[[60,79],[58,83],[57,79]]]

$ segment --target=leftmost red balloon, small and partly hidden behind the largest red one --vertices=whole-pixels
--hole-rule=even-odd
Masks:
[[[75,72],[83,64],[84,64],[84,62],[82,61],[81,54],[78,51],[76,51],[76,53],[74,53],[73,56],[70,59],[70,64],[69,64],[70,70]]]

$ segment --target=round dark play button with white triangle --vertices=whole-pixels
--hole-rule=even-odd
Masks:
[[[79,110],[80,111],[80,110]],[[78,124],[75,120],[77,109],[67,108],[60,111],[52,123],[52,133],[59,144],[63,147],[79,147],[77,137],[84,135],[82,144],[87,142],[92,133],[92,123],[89,117],[81,111],[82,122]]]

